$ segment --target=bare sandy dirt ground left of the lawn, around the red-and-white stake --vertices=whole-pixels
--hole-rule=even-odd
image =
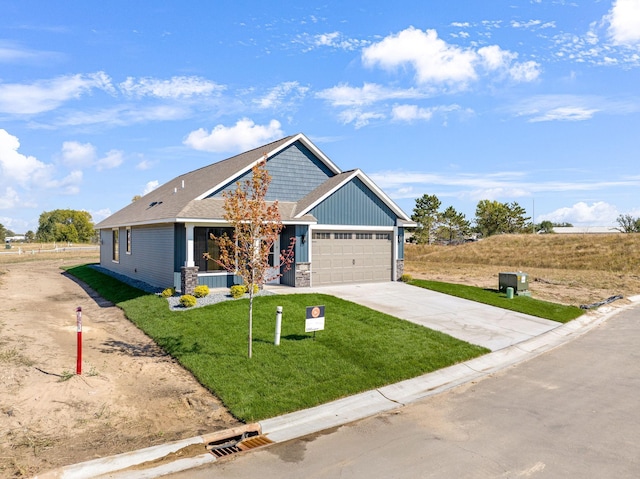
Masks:
[[[78,263],[0,265],[0,477],[239,424],[120,309],[65,276],[65,262]]]

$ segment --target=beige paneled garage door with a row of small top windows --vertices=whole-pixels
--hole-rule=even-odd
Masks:
[[[391,232],[314,231],[313,285],[391,281],[392,237]]]

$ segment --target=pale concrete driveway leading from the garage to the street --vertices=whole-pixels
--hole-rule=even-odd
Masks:
[[[526,341],[560,323],[456,298],[401,282],[313,288],[268,287],[278,294],[323,293],[367,306],[492,351]],[[326,312],[331,314],[330,311]]]

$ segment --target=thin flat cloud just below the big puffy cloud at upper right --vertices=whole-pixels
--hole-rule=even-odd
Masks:
[[[338,85],[316,94],[333,106],[365,106],[385,100],[425,98],[428,93],[415,89],[392,89],[376,83],[365,83],[362,87]]]

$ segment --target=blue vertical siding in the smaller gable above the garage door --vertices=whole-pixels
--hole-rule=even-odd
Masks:
[[[342,186],[310,213],[318,224],[394,226],[396,215],[359,179]]]

